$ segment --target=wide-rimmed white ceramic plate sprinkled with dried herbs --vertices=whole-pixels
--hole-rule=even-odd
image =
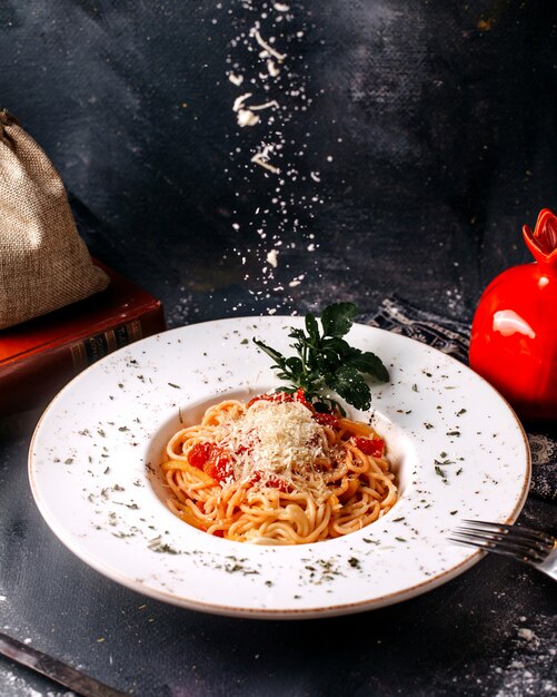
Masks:
[[[213,402],[278,386],[251,338],[291,354],[288,328],[301,325],[273,316],[172,330],[107,356],[66,386],[38,424],[29,459],[37,505],[60,540],[147,596],[260,618],[378,608],[478,561],[480,552],[447,536],[464,518],[516,519],[530,475],[523,428],[459,362],[362,325],[350,343],[377,353],[391,375],[372,387],[372,418],[400,488],[387,516],[337,540],[262,547],[213,538],[167,510],[157,473],[167,439]]]

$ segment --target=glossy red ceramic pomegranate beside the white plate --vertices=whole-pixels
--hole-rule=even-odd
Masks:
[[[508,268],[485,289],[470,337],[470,367],[524,421],[557,423],[557,217],[541,210],[524,238],[536,262]]]

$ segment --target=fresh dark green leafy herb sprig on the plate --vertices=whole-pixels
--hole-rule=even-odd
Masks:
[[[371,391],[364,375],[379,382],[388,382],[389,373],[382,361],[370,351],[360,351],[350,346],[342,338],[352,326],[359,311],[354,303],[334,303],[320,315],[321,328],[316,317],[306,315],[306,328],[290,327],[288,336],[297,356],[286,357],[261,341],[253,342],[269,355],[277,375],[290,384],[284,392],[294,393],[304,390],[306,399],[314,403],[317,411],[344,410],[330,396],[325,396],[328,387],[341,399],[359,410],[371,405]]]

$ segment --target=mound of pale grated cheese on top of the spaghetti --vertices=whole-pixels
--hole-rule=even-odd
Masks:
[[[299,402],[255,402],[239,419],[223,424],[222,444],[232,453],[236,481],[253,475],[261,484],[279,479],[295,489],[326,492],[316,464],[330,462],[324,428]]]

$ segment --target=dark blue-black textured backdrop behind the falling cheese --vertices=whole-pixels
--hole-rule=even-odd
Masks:
[[[557,208],[557,6],[287,4],[2,0],[0,107],[171,324],[391,292],[469,317]],[[241,128],[248,91],[278,107]]]

